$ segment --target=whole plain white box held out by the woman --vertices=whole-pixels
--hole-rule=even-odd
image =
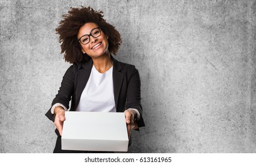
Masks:
[[[66,111],[62,150],[127,151],[124,113]]]

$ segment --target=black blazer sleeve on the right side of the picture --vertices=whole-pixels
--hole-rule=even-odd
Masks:
[[[138,70],[132,65],[131,77],[127,86],[127,109],[135,108],[139,111],[141,118],[137,120],[138,127],[144,127],[144,120],[142,118],[141,106],[141,80]]]

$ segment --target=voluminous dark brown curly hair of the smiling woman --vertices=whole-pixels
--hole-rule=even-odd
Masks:
[[[70,8],[68,14],[63,15],[63,20],[59,22],[56,34],[59,34],[59,42],[61,43],[61,54],[64,53],[64,59],[67,62],[79,63],[90,59],[83,54],[80,43],[77,41],[77,33],[84,24],[92,22],[97,24],[103,33],[108,36],[108,50],[111,54],[116,55],[122,39],[119,32],[114,26],[103,19],[102,11],[94,11],[92,8],[81,6],[80,8]]]

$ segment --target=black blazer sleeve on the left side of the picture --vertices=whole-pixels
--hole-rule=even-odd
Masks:
[[[77,66],[75,64],[71,65],[67,71],[65,72],[63,79],[61,81],[60,89],[56,95],[56,97],[53,99],[53,102],[51,103],[51,106],[53,106],[56,103],[60,103],[64,105],[67,109],[69,109],[69,101],[71,100],[73,91],[74,91],[74,78],[76,75],[76,68]],[[51,113],[50,110],[47,111],[46,116],[51,120],[54,121],[54,114]]]

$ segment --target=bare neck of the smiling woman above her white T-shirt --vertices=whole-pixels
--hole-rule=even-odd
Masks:
[[[101,73],[108,71],[113,66],[113,62],[109,53],[101,55],[101,57],[98,58],[92,58],[92,61],[96,70]]]

